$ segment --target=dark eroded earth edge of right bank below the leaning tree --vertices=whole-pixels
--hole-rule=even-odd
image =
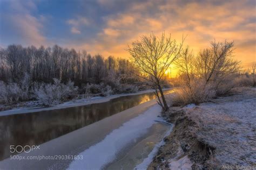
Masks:
[[[186,162],[182,162],[183,158],[186,159],[190,156],[187,152],[185,153],[185,151],[187,151],[186,146],[188,146],[188,143],[194,143],[194,148],[196,148],[196,145],[198,145],[197,155],[199,156],[199,151],[204,152],[203,145],[205,145],[200,143],[199,140],[193,136],[193,134],[188,132],[188,129],[190,129],[195,122],[185,116],[185,109],[179,107],[170,108],[169,111],[162,114],[162,117],[166,120],[166,122],[172,123],[174,126],[170,135],[163,139],[165,144],[159,148],[157,155],[153,158],[153,161],[147,169],[170,168],[170,162],[167,160],[181,160],[180,165],[178,165],[180,167],[187,167],[187,165],[192,166],[193,162],[187,160]],[[187,140],[188,138],[193,138],[193,140],[189,141]],[[199,148],[203,148],[203,150]],[[179,164],[179,161],[177,163]]]

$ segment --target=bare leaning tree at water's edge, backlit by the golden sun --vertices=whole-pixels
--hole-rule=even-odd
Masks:
[[[156,90],[158,104],[161,105],[164,111],[168,110],[163,90],[161,88],[161,80],[171,63],[179,57],[183,46],[184,38],[178,44],[176,40],[165,37],[165,33],[161,37],[156,37],[153,33],[150,36],[142,36],[140,41],[132,42],[132,46],[128,47],[127,51],[131,54],[134,65],[137,67],[139,76],[151,82],[153,87],[160,91],[161,100]]]

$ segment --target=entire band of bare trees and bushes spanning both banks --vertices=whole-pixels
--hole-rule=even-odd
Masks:
[[[233,41],[214,41],[194,54],[183,46],[184,40],[178,43],[165,33],[160,37],[153,33],[142,36],[126,49],[130,60],[92,56],[57,45],[1,48],[0,103],[37,100],[43,105],[55,105],[79,96],[153,88],[158,104],[166,111],[168,103],[199,104],[233,87],[255,86],[255,65],[251,75],[240,74],[240,62],[233,59]],[[181,88],[167,102],[162,88],[170,84],[166,71],[172,69],[172,64],[179,68],[176,86]]]

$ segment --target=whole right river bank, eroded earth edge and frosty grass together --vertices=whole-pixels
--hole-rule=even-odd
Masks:
[[[163,117],[175,126],[148,169],[253,169],[255,103],[255,88],[234,88],[209,103],[171,108]]]

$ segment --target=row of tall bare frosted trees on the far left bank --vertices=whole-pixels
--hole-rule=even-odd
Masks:
[[[127,81],[125,77],[133,77],[132,67],[126,59],[113,56],[104,59],[99,54],[92,56],[58,45],[47,48],[9,45],[0,49],[0,81],[4,82],[19,83],[28,74],[33,82],[52,83],[56,78],[62,82],[71,80],[80,87],[86,83],[99,84],[110,75],[112,79],[123,75],[122,81]]]

